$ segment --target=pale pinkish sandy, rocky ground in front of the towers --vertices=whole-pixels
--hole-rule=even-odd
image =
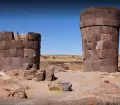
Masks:
[[[72,83],[72,91],[49,91],[48,84],[56,81],[10,80],[1,82],[0,105],[120,105],[120,73],[66,71],[56,72],[56,81]],[[15,79],[14,79],[15,80]],[[6,83],[6,84],[5,84]],[[8,88],[9,87],[9,88]],[[15,97],[7,97],[6,89],[23,89]],[[14,91],[15,92],[15,91]],[[4,96],[4,97],[3,97]],[[19,97],[18,97],[19,96]]]

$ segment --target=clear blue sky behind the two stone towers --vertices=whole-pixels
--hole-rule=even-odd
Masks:
[[[0,11],[0,31],[41,33],[42,54],[81,55],[80,12],[85,7],[97,5],[99,4],[46,4],[3,8]]]

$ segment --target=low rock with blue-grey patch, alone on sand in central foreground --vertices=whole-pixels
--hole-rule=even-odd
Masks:
[[[48,84],[50,91],[72,91],[72,84],[70,82],[51,82]]]

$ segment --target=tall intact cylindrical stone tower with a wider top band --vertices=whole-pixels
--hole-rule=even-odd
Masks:
[[[84,71],[118,70],[120,11],[90,7],[80,15]]]

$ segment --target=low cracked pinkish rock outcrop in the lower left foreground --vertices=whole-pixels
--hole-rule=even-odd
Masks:
[[[0,97],[27,98],[26,90],[29,86],[19,84],[13,80],[0,80]]]

